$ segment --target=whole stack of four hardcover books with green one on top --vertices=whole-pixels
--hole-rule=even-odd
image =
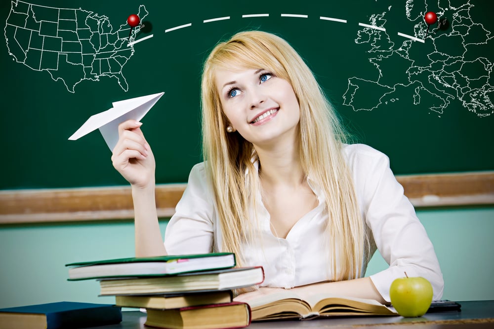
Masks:
[[[131,257],[70,263],[69,280],[96,279],[101,296],[119,307],[146,309],[146,326],[170,329],[243,328],[250,306],[235,289],[264,280],[261,266],[235,267],[232,253]]]

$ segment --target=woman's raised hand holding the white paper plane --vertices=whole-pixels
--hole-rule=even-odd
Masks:
[[[155,159],[141,131],[142,123],[127,120],[119,125],[119,141],[113,149],[112,162],[132,187],[155,184]]]

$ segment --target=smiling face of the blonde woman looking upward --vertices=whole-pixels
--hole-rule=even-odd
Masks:
[[[300,107],[290,83],[263,69],[216,70],[216,88],[230,125],[254,145],[294,137]]]

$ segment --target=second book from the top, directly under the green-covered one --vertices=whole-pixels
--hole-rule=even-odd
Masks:
[[[264,281],[261,266],[167,276],[100,279],[100,295],[146,295],[231,290]]]

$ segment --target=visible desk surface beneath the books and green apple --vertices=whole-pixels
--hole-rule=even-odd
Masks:
[[[428,313],[420,318],[352,317],[326,318],[309,321],[253,322],[249,329],[281,328],[363,328],[372,329],[492,329],[494,328],[494,300],[460,301],[460,312]],[[146,314],[124,311],[122,323],[93,329],[150,329],[145,327]]]

